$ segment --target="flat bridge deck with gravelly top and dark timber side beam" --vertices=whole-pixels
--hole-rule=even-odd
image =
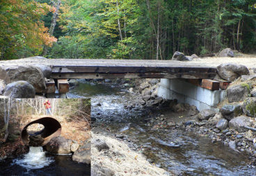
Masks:
[[[52,68],[52,78],[214,78],[216,67],[233,62],[256,67],[256,58],[171,60],[34,59],[0,61],[1,65],[38,65]]]

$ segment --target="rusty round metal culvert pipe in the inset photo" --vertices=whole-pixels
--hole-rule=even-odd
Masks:
[[[31,130],[38,123],[36,130]],[[40,124],[40,125],[39,125]],[[61,135],[61,123],[55,118],[43,117],[26,124],[22,129],[22,142],[29,146],[45,146],[53,137]]]

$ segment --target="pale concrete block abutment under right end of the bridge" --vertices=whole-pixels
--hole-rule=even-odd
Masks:
[[[195,105],[199,111],[214,109],[225,97],[225,90],[211,91],[192,85],[182,79],[161,79],[158,96],[168,100],[177,99],[179,103]]]

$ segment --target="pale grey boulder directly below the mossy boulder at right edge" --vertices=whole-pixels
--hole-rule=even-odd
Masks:
[[[234,130],[237,130],[239,132],[244,132],[246,131],[244,126],[251,127],[253,125],[253,121],[248,116],[237,116],[235,118],[232,118],[232,120],[228,123],[228,125]]]

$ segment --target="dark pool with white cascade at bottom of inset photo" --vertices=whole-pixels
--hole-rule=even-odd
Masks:
[[[30,147],[29,153],[17,159],[0,161],[0,175],[90,175],[90,166],[72,161],[71,155],[50,155],[42,147]]]

